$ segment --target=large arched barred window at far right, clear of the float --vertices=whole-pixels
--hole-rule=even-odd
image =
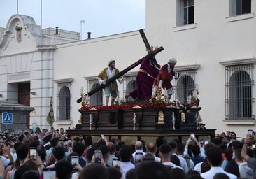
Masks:
[[[240,62],[240,63],[239,63]],[[253,115],[253,68],[250,59],[221,62],[225,66],[226,120],[250,120]]]

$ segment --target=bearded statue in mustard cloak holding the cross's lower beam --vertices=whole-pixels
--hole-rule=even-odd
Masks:
[[[119,70],[115,68],[115,60],[111,59],[108,62],[108,67],[103,69],[101,73],[99,73],[99,75],[97,76],[99,84],[106,85],[106,87],[104,87],[104,92],[106,96],[106,106],[108,106],[109,96],[112,97],[111,105],[114,105],[114,101],[118,96],[118,84],[116,83],[116,80],[114,80],[112,83],[109,83],[109,84],[106,83],[106,80],[112,78],[118,73],[119,73]],[[118,81],[122,83],[123,82],[122,77],[118,78]]]

